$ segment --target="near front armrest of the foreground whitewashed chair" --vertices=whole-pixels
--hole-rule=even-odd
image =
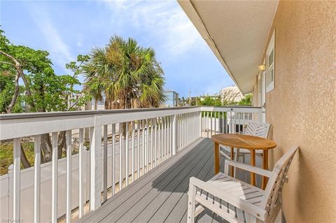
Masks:
[[[235,196],[235,195],[232,195],[226,192],[224,189],[221,189],[220,187],[216,185],[212,185],[209,182],[204,182],[197,178],[190,178],[189,189],[190,187],[197,187],[198,189],[202,189],[205,192],[208,192],[209,194],[212,194],[218,197],[218,199],[221,199],[227,203],[230,203],[232,204],[232,206],[235,206],[241,210],[244,210],[246,213],[249,213],[257,217],[258,219],[265,221],[265,218],[267,216],[266,210],[258,206],[255,206],[252,203],[248,203],[247,201],[239,198],[238,196]]]

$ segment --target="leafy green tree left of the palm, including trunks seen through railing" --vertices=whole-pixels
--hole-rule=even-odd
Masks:
[[[80,82],[76,75],[56,75],[45,50],[34,50],[24,45],[13,45],[0,30],[1,112],[48,112],[69,110],[67,98],[76,94],[74,85]],[[24,83],[19,85],[22,78]],[[24,93],[25,92],[25,93]],[[11,99],[8,96],[12,94]],[[22,104],[25,108],[22,107]],[[65,133],[59,134],[59,150],[65,147]],[[29,161],[22,149],[21,161],[28,167]],[[42,161],[51,159],[49,134],[41,136]]]

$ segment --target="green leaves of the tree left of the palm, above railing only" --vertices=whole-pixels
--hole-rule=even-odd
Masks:
[[[43,112],[67,110],[67,96],[79,93],[73,88],[80,85],[77,79],[79,70],[76,63],[69,65],[69,69],[76,71],[74,75],[56,75],[52,69],[52,62],[45,50],[34,50],[24,45],[13,45],[0,30],[0,50],[14,57],[27,78],[27,84],[20,86],[20,96],[12,112],[22,112],[24,102],[29,109],[25,111]],[[80,55],[79,59],[87,60],[87,56]],[[5,112],[13,97],[15,74],[17,70],[13,60],[0,55],[0,111]],[[22,78],[22,77],[20,77]],[[23,94],[30,90],[31,96]]]

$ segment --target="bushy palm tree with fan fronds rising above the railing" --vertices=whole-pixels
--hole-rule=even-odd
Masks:
[[[133,38],[111,37],[105,48],[94,48],[84,66],[85,91],[105,108],[158,107],[165,101],[165,78],[152,48]]]

